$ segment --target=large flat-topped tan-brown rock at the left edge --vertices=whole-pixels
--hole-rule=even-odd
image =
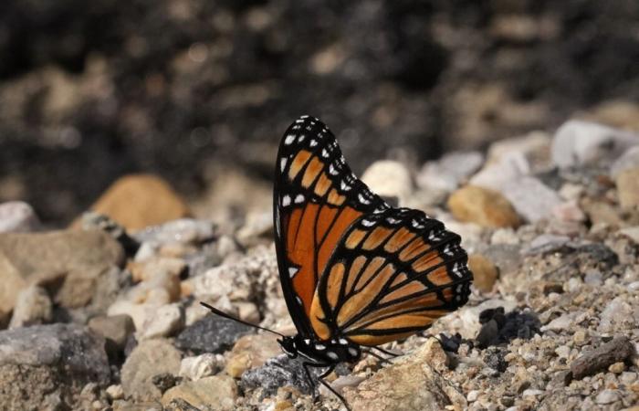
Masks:
[[[13,309],[18,292],[33,284],[49,288],[64,307],[85,306],[104,291],[100,278],[123,262],[120,244],[99,230],[0,235],[0,312]]]

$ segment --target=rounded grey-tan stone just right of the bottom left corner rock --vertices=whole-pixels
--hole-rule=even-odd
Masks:
[[[140,342],[122,365],[121,381],[124,394],[136,401],[151,401],[162,397],[152,379],[158,374],[177,375],[180,372],[180,352],[164,339]]]

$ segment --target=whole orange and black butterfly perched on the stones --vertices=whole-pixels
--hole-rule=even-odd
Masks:
[[[305,359],[309,381],[309,367],[328,367],[319,382],[344,404],[322,379],[337,364],[423,331],[468,300],[461,237],[373,194],[314,117],[301,116],[280,142],[273,209],[279,277],[298,330],[278,342]]]

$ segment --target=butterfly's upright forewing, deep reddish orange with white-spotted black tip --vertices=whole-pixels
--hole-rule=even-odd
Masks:
[[[389,205],[352,174],[335,136],[309,116],[293,122],[280,142],[273,202],[288,311],[299,333],[312,336],[313,295],[341,237],[358,218]]]

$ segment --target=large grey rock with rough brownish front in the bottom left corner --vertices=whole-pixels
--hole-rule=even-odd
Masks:
[[[74,324],[0,332],[0,375],[4,409],[43,409],[51,401],[66,409],[85,385],[110,383],[104,339]]]

